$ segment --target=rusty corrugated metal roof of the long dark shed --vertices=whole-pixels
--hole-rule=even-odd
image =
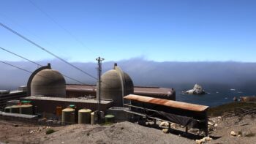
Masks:
[[[204,110],[208,109],[208,106],[205,105],[190,104],[187,102],[176,102],[173,100],[157,99],[153,97],[139,96],[135,94],[129,94],[128,96],[124,96],[124,99],[134,100],[138,102],[146,102],[155,105],[164,105],[166,107],[173,107],[182,110],[192,110],[197,112],[203,112]]]

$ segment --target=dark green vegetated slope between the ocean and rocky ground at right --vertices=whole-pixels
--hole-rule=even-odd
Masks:
[[[217,107],[210,107],[208,110],[208,116],[222,116],[225,113],[233,112],[237,107],[244,108],[246,110],[256,108],[255,102],[231,102],[225,105],[219,105]]]

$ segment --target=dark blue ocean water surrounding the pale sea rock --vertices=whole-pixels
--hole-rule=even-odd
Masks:
[[[198,105],[208,105],[210,107],[215,107],[218,105],[223,105],[229,102],[233,102],[233,98],[236,96],[254,96],[256,95],[256,88],[253,86],[220,86],[220,85],[202,85],[203,89],[208,94],[203,95],[191,95],[182,94],[181,91],[187,91],[193,88],[193,84],[182,84],[182,85],[166,85],[158,84],[155,86],[174,88],[176,90],[176,101],[179,102],[189,102]],[[1,89],[17,89],[17,86],[1,86]]]

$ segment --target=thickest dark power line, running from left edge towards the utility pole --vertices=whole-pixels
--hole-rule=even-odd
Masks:
[[[41,50],[44,50],[46,53],[49,53],[50,55],[58,58],[59,60],[63,61],[64,63],[68,64],[69,66],[78,69],[80,72],[83,72],[84,74],[88,75],[89,77],[94,78],[95,80],[97,80],[96,77],[94,77],[93,75],[90,75],[88,72],[83,71],[82,69],[75,67],[73,64],[70,64],[69,62],[65,61],[63,58],[60,58],[59,56],[56,56],[56,54],[51,53],[49,50],[43,48],[42,46],[38,45],[37,43],[31,41],[30,39],[24,37],[22,34],[19,34],[17,31],[14,31],[13,29],[10,29],[8,26],[4,25],[3,23],[0,23],[0,26],[4,27],[4,29],[7,29],[8,31],[11,31],[13,34],[18,35],[18,37],[21,37],[22,39],[25,39],[27,42],[30,42],[32,45],[35,45],[37,48],[40,48]]]

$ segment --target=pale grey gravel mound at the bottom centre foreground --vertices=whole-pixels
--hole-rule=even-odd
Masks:
[[[111,126],[74,125],[53,133],[45,143],[193,143],[159,129],[122,122]]]

